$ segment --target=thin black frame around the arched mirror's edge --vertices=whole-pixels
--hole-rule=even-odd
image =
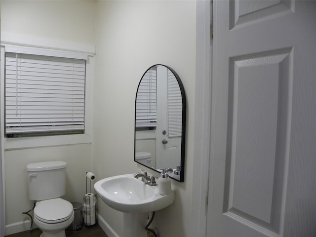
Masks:
[[[166,65],[163,65],[163,64],[155,64],[151,67],[149,67],[145,73],[143,74],[143,76],[141,77],[139,83],[138,83],[138,86],[137,86],[137,90],[136,90],[136,96],[135,96],[135,118],[134,118],[134,161],[136,163],[139,163],[141,165],[144,165],[138,161],[136,161],[136,158],[135,158],[135,152],[136,152],[136,99],[137,99],[137,92],[138,92],[138,88],[139,88],[139,85],[140,85],[140,82],[141,80],[143,79],[143,77],[145,76],[145,74],[147,73],[148,70],[150,70],[152,67],[155,67],[155,66],[163,66],[163,67],[166,67],[167,69],[169,69],[173,75],[175,76],[175,78],[177,79],[178,81],[178,84],[179,84],[179,87],[180,87],[180,91],[181,91],[181,96],[182,96],[182,129],[181,129],[181,157],[180,157],[180,165],[181,165],[181,171],[180,171],[180,180],[178,179],[175,179],[171,176],[169,176],[171,179],[174,179],[178,182],[184,182],[184,170],[185,170],[185,141],[186,141],[186,113],[187,113],[187,100],[186,100],[186,94],[184,92],[184,87],[183,87],[183,84],[182,84],[182,81],[180,79],[180,77],[178,76],[178,74],[170,67],[166,66]],[[146,166],[146,165],[144,165]],[[149,166],[146,166],[147,168],[150,168],[156,172],[160,172],[156,169],[153,169],[152,167],[149,167]],[[161,173],[161,172],[160,172]]]

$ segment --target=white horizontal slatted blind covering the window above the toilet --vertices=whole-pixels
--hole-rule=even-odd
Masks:
[[[5,53],[5,134],[83,133],[85,60]]]

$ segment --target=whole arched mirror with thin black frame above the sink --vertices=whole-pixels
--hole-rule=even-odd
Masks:
[[[135,156],[137,163],[184,181],[186,97],[179,76],[157,64],[141,78],[135,100]]]

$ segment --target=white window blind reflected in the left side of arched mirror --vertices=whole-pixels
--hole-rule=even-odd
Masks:
[[[146,72],[139,83],[136,98],[136,127],[157,125],[157,68]]]

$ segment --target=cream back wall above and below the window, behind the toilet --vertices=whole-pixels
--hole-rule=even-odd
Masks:
[[[1,40],[18,40],[24,44],[55,48],[67,48],[71,45],[72,50],[76,50],[77,45],[88,45],[88,49],[95,47],[94,1],[1,0],[0,9]],[[46,137],[29,138],[23,139],[20,147],[15,145],[15,148],[10,149],[8,143],[4,142],[5,235],[30,228],[29,217],[22,214],[33,205],[27,190],[28,163],[65,160],[68,163],[65,199],[82,200],[85,194],[85,171],[91,169],[92,157],[92,138],[86,137],[82,142],[78,136],[71,136],[68,139],[71,144],[62,142],[64,136],[50,137],[48,140]],[[15,141],[19,140],[18,138]],[[25,144],[29,148],[23,148]],[[38,147],[38,144],[45,145]]]

